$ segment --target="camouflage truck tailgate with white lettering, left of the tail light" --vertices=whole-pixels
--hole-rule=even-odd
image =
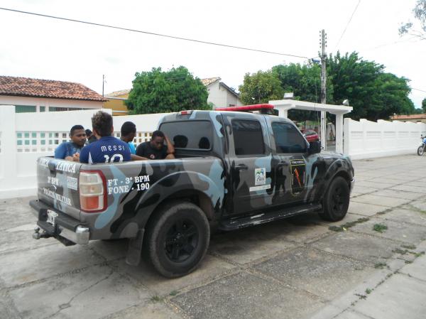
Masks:
[[[50,157],[38,158],[38,199],[80,220],[78,177],[81,166]]]

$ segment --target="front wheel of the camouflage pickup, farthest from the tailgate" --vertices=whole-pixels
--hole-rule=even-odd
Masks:
[[[329,222],[342,220],[349,207],[349,185],[342,177],[332,180],[322,202],[323,211],[320,217]]]

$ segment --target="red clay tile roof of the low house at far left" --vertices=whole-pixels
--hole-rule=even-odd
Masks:
[[[0,76],[0,95],[107,101],[80,83]]]

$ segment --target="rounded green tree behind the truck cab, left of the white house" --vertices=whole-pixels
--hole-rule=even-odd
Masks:
[[[184,109],[211,109],[208,92],[186,67],[162,71],[136,72],[126,104],[131,114],[179,112]]]

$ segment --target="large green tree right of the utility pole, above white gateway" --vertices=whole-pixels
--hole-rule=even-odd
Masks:
[[[359,58],[358,53],[327,59],[327,75],[334,87],[333,103],[349,99],[352,119],[388,119],[392,114],[412,114],[408,79],[383,72],[384,66]]]

